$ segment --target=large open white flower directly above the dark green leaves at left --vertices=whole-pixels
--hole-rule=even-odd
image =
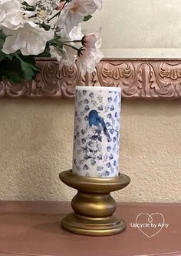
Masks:
[[[38,55],[44,52],[46,43],[54,38],[53,31],[45,31],[31,21],[25,22],[23,28],[13,31],[4,29],[4,32],[9,35],[2,48],[6,54],[20,50],[25,56]]]

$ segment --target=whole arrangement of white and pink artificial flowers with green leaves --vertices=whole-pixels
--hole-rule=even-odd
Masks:
[[[35,57],[93,72],[103,57],[100,31],[84,35],[81,22],[101,6],[102,0],[0,0],[0,81],[35,79]]]

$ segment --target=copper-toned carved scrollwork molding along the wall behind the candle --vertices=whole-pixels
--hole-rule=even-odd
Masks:
[[[77,66],[59,69],[55,59],[37,59],[35,80],[0,83],[0,97],[74,98],[76,86],[120,86],[126,99],[181,99],[181,60],[103,59],[92,74],[81,76]]]

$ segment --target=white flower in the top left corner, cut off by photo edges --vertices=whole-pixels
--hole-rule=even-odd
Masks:
[[[0,25],[8,29],[17,29],[23,19],[21,1],[0,0]]]

